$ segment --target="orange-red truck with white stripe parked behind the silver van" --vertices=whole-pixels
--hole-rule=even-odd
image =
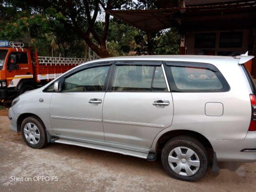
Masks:
[[[91,59],[41,57],[23,42],[0,40],[0,101],[44,86],[71,68]],[[0,103],[1,103],[0,102]]]

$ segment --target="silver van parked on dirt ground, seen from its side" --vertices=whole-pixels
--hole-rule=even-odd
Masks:
[[[253,56],[136,56],[84,63],[15,98],[10,129],[32,148],[65,143],[154,161],[197,181],[256,161]]]

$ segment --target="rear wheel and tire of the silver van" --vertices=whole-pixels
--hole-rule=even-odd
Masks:
[[[198,181],[205,175],[208,167],[205,147],[188,136],[178,136],[167,141],[162,149],[161,159],[167,174],[182,181]]]

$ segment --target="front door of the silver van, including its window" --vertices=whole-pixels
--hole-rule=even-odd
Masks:
[[[102,105],[109,69],[91,67],[63,77],[62,90],[53,93],[50,104],[54,134],[104,141]]]

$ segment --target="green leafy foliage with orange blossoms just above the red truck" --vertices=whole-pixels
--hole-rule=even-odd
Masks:
[[[12,41],[28,36],[30,41],[26,46],[37,48],[39,55],[83,57],[84,41],[65,29],[59,19],[65,18],[54,8],[47,8],[44,14],[17,11],[12,18],[1,23],[0,39]]]

